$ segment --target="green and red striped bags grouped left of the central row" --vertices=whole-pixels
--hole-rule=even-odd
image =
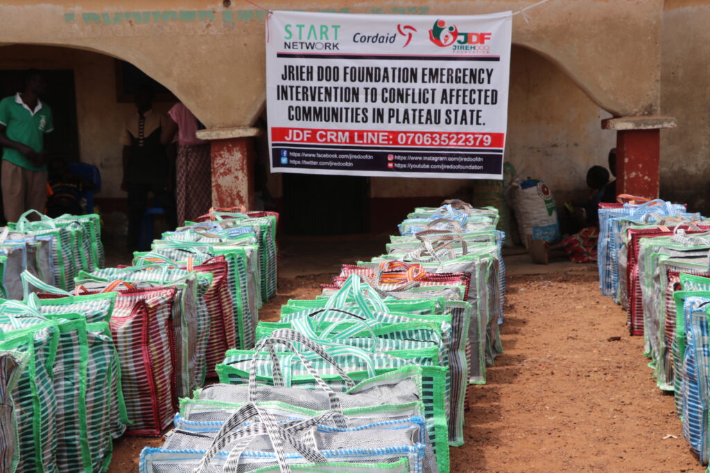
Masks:
[[[20,436],[5,443],[2,425],[0,458],[23,472],[104,471],[113,438],[160,435],[226,350],[254,346],[275,294],[277,215],[213,209],[116,268],[102,268],[97,216],[26,217],[3,233],[24,258],[23,301],[0,304],[0,352],[28,360],[18,408],[3,412]],[[45,251],[47,272],[27,264],[29,248]]]

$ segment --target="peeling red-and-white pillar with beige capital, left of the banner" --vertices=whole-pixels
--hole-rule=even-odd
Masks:
[[[198,138],[210,141],[212,206],[253,208],[254,148],[258,128],[207,128]]]

